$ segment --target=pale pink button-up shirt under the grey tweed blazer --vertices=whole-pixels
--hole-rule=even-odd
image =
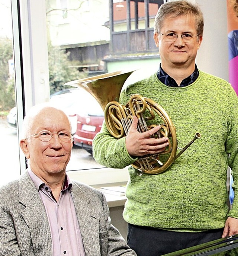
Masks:
[[[49,221],[52,239],[52,256],[85,256],[83,240],[80,233],[77,215],[71,196],[71,183],[65,176],[63,189],[58,202],[51,189],[32,170],[29,175],[38,189]],[[34,214],[32,212],[32,214]]]

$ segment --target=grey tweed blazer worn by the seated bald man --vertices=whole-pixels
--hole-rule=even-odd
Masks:
[[[109,217],[102,192],[73,182],[72,197],[86,256],[136,255]],[[0,256],[52,256],[44,205],[26,172],[0,188]]]

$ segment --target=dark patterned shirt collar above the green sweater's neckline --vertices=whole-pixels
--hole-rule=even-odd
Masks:
[[[199,76],[199,71],[197,69],[197,65],[195,64],[195,69],[193,71],[193,73],[183,79],[183,81],[181,82],[180,86],[178,86],[178,84],[176,83],[176,81],[170,77],[161,67],[160,64],[160,69],[157,71],[157,77],[158,79],[165,85],[170,86],[170,87],[185,87],[188,86],[189,84],[192,84],[194,81],[196,81],[197,77]]]

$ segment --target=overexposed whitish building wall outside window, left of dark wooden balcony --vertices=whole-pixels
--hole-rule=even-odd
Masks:
[[[71,0],[67,2],[67,18],[63,19],[60,1],[50,0],[47,19],[52,45],[109,41],[110,29],[104,26],[109,20],[108,4],[108,0]]]

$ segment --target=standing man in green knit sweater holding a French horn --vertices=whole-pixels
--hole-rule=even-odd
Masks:
[[[136,130],[134,117],[126,137],[112,137],[104,124],[94,138],[94,158],[105,166],[129,166],[128,244],[139,256],[158,256],[238,234],[238,201],[226,201],[226,171],[238,180],[238,97],[231,85],[199,70],[195,64],[202,43],[203,15],[189,1],[161,5],[155,17],[154,41],[161,64],[154,75],[122,90],[125,105],[132,94],[161,105],[176,127],[179,145],[196,131],[200,140],[163,173],[137,175],[129,166],[139,156],[157,154],[168,138],[148,138],[160,127]],[[206,61],[206,60],[205,60]],[[218,63],[214,63],[218,65]],[[157,116],[148,125],[161,124]]]

